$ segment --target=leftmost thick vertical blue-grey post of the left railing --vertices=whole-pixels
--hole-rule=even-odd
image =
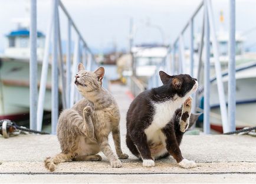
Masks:
[[[37,0],[30,5],[29,127],[37,130]]]

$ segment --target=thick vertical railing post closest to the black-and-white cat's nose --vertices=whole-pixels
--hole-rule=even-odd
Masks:
[[[209,134],[210,129],[210,34],[207,0],[204,0],[204,20],[205,20],[205,66],[204,66],[204,133]]]

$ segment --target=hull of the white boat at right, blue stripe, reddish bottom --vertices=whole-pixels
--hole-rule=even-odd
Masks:
[[[256,126],[256,62],[239,65],[236,68],[236,128]],[[228,72],[222,73],[226,104],[228,104]],[[216,77],[210,86],[211,129],[222,132],[221,111],[219,108]],[[201,94],[201,97],[203,93]],[[201,98],[201,108],[204,98]]]

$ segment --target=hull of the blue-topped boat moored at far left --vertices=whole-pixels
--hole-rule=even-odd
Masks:
[[[38,63],[38,90],[41,78]],[[51,65],[48,68],[44,110],[51,111]],[[0,68],[0,119],[19,120],[29,114],[29,62],[14,58],[1,58]]]

